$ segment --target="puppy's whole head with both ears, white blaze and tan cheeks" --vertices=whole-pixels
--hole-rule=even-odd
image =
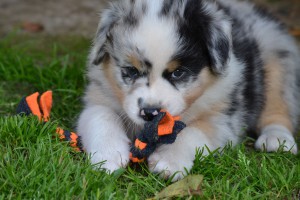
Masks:
[[[102,15],[90,65],[135,123],[181,115],[226,73],[230,27],[207,1],[121,0]]]

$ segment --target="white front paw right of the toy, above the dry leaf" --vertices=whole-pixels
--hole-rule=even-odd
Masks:
[[[150,171],[161,178],[177,181],[190,171],[194,156],[185,154],[173,144],[162,145],[148,158],[148,165]]]

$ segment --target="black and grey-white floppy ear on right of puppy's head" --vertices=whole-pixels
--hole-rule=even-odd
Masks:
[[[205,54],[207,65],[215,74],[223,74],[229,61],[232,36],[231,21],[215,0],[185,0],[179,7],[183,33],[188,40],[199,45],[199,52]],[[192,39],[190,39],[192,38]]]

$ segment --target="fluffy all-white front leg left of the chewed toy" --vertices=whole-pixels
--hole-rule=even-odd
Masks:
[[[129,139],[119,120],[111,109],[91,106],[81,113],[78,121],[78,132],[92,164],[109,172],[126,166],[129,161]]]

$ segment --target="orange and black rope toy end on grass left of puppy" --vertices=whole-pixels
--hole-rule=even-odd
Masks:
[[[39,98],[39,101],[38,101]],[[38,92],[23,97],[17,107],[17,114],[30,115],[33,114],[39,118],[41,122],[48,122],[50,120],[50,113],[52,109],[52,91],[44,92],[40,95]],[[60,127],[56,128],[56,133],[61,140],[66,140],[70,146],[77,152],[82,152],[82,144],[80,136],[76,133],[64,130]]]

